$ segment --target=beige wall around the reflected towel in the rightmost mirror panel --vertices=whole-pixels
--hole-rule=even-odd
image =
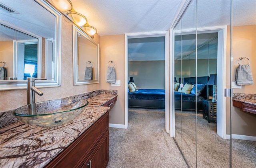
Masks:
[[[227,49],[230,48],[230,27],[228,27]],[[232,29],[232,81],[235,79],[239,57],[250,59],[250,67],[254,78],[254,85],[242,86],[242,89],[234,89],[234,93],[256,94],[256,25],[236,26]],[[240,61],[242,63],[242,61]],[[230,50],[227,50],[227,74],[226,88],[230,88]],[[230,133],[230,98],[226,98],[226,131]],[[238,107],[232,107],[232,134],[248,135],[256,137],[256,115],[241,111]]]

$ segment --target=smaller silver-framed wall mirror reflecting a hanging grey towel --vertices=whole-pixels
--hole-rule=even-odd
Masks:
[[[74,86],[99,83],[99,44],[73,25]]]

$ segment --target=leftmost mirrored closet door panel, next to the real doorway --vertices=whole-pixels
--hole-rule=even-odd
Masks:
[[[190,94],[196,82],[196,1],[174,29],[174,46],[175,141],[188,164],[196,167],[196,94]]]

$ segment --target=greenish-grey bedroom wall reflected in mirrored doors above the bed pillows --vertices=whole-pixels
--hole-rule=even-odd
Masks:
[[[198,59],[197,60],[197,76],[210,76],[210,74],[217,73],[217,59]],[[209,66],[208,66],[209,65]],[[209,67],[209,72],[208,72]],[[181,60],[175,61],[175,77],[194,77],[196,76],[196,60],[182,60],[182,74],[181,74]]]

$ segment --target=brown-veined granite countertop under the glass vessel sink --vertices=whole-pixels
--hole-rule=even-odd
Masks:
[[[0,167],[44,167],[104,115],[110,107],[100,105],[116,96],[99,94],[86,99],[85,110],[59,127],[33,127],[18,121],[0,128]]]

